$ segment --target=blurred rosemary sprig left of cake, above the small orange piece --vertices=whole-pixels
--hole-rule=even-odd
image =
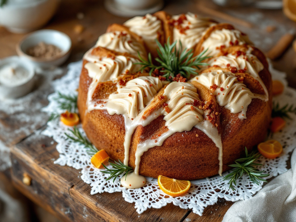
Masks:
[[[68,112],[76,112],[77,110],[77,96],[69,96],[58,92],[58,97],[54,98],[59,104],[59,108],[62,110],[67,110]],[[48,121],[59,118],[59,113],[51,113]]]

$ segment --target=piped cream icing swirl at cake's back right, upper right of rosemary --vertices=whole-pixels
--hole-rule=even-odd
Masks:
[[[238,30],[215,30],[211,35],[202,43],[203,49],[208,49],[210,56],[214,56],[220,52],[220,46],[228,48],[231,45],[242,45],[248,43],[250,40],[247,36],[242,35]]]

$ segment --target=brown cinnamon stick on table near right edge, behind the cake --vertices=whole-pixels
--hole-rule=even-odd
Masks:
[[[275,46],[266,53],[266,56],[272,60],[279,58],[289,47],[295,38],[295,34],[287,33],[283,35]]]

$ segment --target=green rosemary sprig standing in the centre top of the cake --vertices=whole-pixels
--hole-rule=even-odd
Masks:
[[[173,78],[180,74],[184,78],[189,78],[190,75],[198,75],[196,72],[199,69],[200,65],[208,65],[207,63],[202,62],[205,59],[210,57],[204,56],[205,51],[200,53],[199,55],[193,57],[192,49],[188,50],[184,49],[184,51],[180,52],[182,48],[182,44],[180,42],[180,48],[177,50],[175,41],[173,44],[170,44],[170,37],[168,38],[167,43],[162,46],[157,39],[155,40],[158,46],[157,54],[158,58],[155,58],[155,61],[159,63],[159,65],[154,65],[152,62],[151,53],[148,54],[148,61],[143,59],[139,52],[138,56],[141,62],[135,63],[142,65],[139,71],[143,72],[146,68],[149,68],[149,75],[155,70],[158,70],[168,81],[173,81]]]

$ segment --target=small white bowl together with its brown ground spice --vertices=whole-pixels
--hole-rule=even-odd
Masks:
[[[57,30],[39,30],[25,36],[17,45],[17,54],[44,69],[62,65],[70,56],[71,39]]]

